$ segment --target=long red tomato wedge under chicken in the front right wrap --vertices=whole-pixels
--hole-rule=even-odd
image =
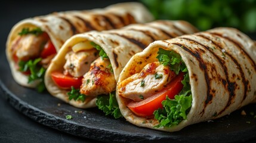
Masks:
[[[140,102],[131,101],[127,104],[127,107],[137,116],[152,117],[155,110],[163,107],[162,101],[166,99],[166,95],[168,95],[170,99],[174,99],[174,96],[182,90],[183,84],[181,80],[183,79],[184,73],[180,73],[157,94]]]

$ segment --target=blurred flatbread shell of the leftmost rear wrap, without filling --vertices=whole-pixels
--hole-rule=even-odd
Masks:
[[[63,43],[77,33],[116,29],[131,23],[146,23],[152,20],[153,16],[138,2],[120,3],[102,9],[52,13],[21,20],[11,29],[6,48],[14,80],[30,88],[35,88],[37,85],[37,81],[28,83],[28,76],[17,70],[14,62],[14,46],[17,45],[15,42],[20,36],[18,33],[24,28],[29,30],[39,28],[46,32],[55,50],[59,51]]]

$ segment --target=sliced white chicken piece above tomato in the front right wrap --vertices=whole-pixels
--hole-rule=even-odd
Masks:
[[[118,92],[122,97],[142,101],[161,91],[175,76],[168,66],[156,61],[147,64],[140,73],[123,80]]]

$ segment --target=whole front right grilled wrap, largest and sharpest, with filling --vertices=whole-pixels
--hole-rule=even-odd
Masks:
[[[254,41],[229,27],[156,41],[128,61],[116,99],[128,122],[174,132],[255,100],[255,62]]]

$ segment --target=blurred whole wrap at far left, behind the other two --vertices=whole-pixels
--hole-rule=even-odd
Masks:
[[[63,43],[77,33],[108,30],[131,23],[146,23],[153,16],[140,3],[127,2],[106,8],[65,11],[27,18],[8,36],[6,54],[14,80],[30,88],[44,87],[45,69]],[[42,68],[41,68],[42,67]]]

